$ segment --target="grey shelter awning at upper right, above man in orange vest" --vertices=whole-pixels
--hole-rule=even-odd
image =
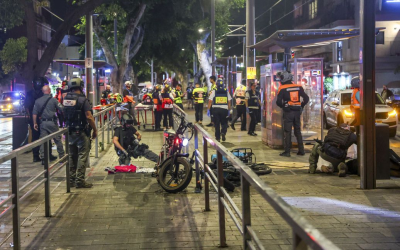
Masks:
[[[376,33],[383,27],[376,28]],[[326,45],[359,35],[359,28],[343,29],[294,29],[278,30],[268,38],[249,46],[268,53],[282,52],[284,48],[292,50]]]

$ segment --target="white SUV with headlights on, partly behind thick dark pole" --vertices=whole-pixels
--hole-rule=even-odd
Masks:
[[[323,126],[328,129],[351,120],[350,111],[352,89],[334,90],[323,103]],[[389,136],[396,136],[397,113],[386,105],[378,92],[375,92],[375,122],[389,125]]]

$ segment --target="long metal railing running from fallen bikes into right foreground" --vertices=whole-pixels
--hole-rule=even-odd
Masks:
[[[198,150],[198,132],[202,133],[203,155]],[[217,176],[208,166],[208,143],[216,149]],[[194,130],[194,150],[196,182],[199,178],[199,169],[204,169],[204,195],[205,211],[209,208],[209,184],[218,193],[218,220],[219,220],[219,245],[226,246],[225,237],[225,209],[232,218],[234,224],[243,237],[243,249],[265,249],[257,234],[251,227],[250,210],[250,185],[276,210],[276,212],[286,220],[293,231],[293,249],[307,249],[307,245],[312,249],[340,249],[329,239],[315,229],[304,217],[300,215],[292,206],[287,204],[271,187],[258,177],[248,166],[243,164],[228,149],[219,142],[215,142],[213,137],[201,126],[195,124]],[[222,156],[226,157],[230,163],[240,172],[241,181],[241,211],[223,188],[223,162]],[[232,210],[233,209],[233,210]]]

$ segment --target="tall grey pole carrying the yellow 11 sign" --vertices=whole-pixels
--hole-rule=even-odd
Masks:
[[[255,49],[248,48],[255,43],[254,11],[254,0],[246,0],[246,67],[255,67]]]

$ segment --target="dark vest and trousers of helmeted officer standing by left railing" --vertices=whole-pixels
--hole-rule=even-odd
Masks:
[[[89,156],[91,128],[86,111],[92,111],[91,103],[83,94],[67,93],[64,100],[65,125],[69,129],[69,179],[75,185],[83,185]]]

